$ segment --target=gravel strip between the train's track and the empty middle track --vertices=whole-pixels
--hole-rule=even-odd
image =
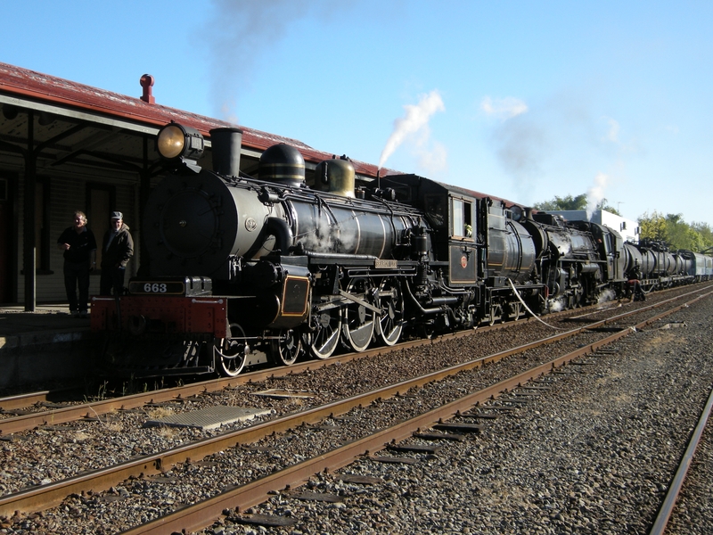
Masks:
[[[370,391],[389,383],[404,381],[464,360],[487,356],[504,347],[515,347],[548,334],[537,322],[520,322],[507,330],[474,333],[472,336],[437,342],[412,350],[399,350],[376,358],[365,358],[317,369],[305,374],[291,374],[263,383],[241,385],[234,390],[182,399],[160,407],[143,407],[102,416],[93,421],[80,420],[61,425],[47,425],[1,437],[0,494],[9,494],[38,484],[76,475],[86,470],[102,468],[149,455],[185,442],[214,436],[246,424],[227,425],[217,430],[194,428],[145,428],[143,423],[190,410],[216,405],[259,407],[271,409],[271,416],[282,416]],[[592,335],[592,340],[602,334]],[[579,340],[581,342],[581,339]],[[564,349],[573,349],[578,342],[560,342]],[[498,363],[487,372],[479,372],[472,388],[496,383],[513,369],[534,366],[549,358],[549,351],[530,351],[517,357],[512,366]],[[256,391],[278,388],[310,392],[309,399],[273,399],[253,395]],[[262,418],[258,418],[260,421]]]

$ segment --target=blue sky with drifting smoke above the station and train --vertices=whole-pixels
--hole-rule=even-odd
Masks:
[[[149,73],[158,103],[374,164],[413,125],[386,167],[713,226],[709,0],[2,5],[0,62],[137,97]]]

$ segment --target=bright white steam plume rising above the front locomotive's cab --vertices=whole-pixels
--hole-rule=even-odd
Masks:
[[[434,89],[428,95],[423,95],[416,105],[406,104],[404,110],[406,110],[404,117],[394,121],[394,130],[391,132],[383,151],[381,151],[379,169],[384,166],[386,161],[389,160],[389,156],[397,150],[399,145],[409,139],[414,140],[415,146],[419,149],[419,154],[421,155],[420,163],[423,167],[433,170],[436,166],[442,167],[445,165],[445,147],[441,144],[435,144],[433,149],[429,150],[428,148],[430,118],[437,111],[446,110],[438,90]]]

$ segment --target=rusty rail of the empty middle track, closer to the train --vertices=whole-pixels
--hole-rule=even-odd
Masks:
[[[710,294],[713,294],[713,292],[701,295],[695,300],[700,300]],[[688,306],[688,303],[684,303],[675,309],[665,312],[664,314],[670,314],[686,306]],[[655,321],[660,316],[650,318],[640,325],[646,325],[651,321]],[[0,516],[12,515],[15,511],[34,512],[37,510],[43,510],[45,508],[60,504],[64,498],[72,493],[78,494],[86,490],[106,490],[121,481],[127,480],[131,476],[136,477],[141,476],[142,474],[151,475],[165,472],[168,471],[168,467],[182,463],[188,458],[193,461],[197,461],[222,449],[233,448],[238,444],[255,442],[273,432],[284,432],[300,424],[314,424],[324,419],[324,417],[344,414],[353,407],[371,403],[375,399],[393,397],[398,395],[400,392],[406,392],[411,388],[434,381],[440,381],[449,375],[471,370],[489,362],[495,362],[502,358],[536,348],[538,345],[568,338],[577,333],[586,331],[589,328],[591,328],[591,326],[578,327],[577,329],[573,329],[566,333],[558,333],[548,338],[536,342],[530,342],[517,348],[500,351],[487,357],[450,366],[443,370],[438,370],[437,372],[412,378],[401,383],[388,385],[375,391],[358,394],[348,399],[340,399],[319,407],[313,407],[304,412],[281,416],[270,422],[253,425],[233,432],[222,433],[214,437],[198,440],[191,444],[185,444],[174,449],[168,449],[156,454],[126,461],[124,463],[120,463],[119,465],[113,465],[108,468],[81,473],[62,481],[56,481],[47,485],[7,495],[0,498]],[[623,334],[620,332],[612,336],[623,336],[626,333],[628,333],[627,329],[623,331]],[[594,344],[587,345],[584,348],[572,353],[572,355],[579,356],[584,354],[587,348],[593,348],[592,350],[594,350],[595,348],[600,347],[600,345],[602,345],[602,343],[595,342]]]

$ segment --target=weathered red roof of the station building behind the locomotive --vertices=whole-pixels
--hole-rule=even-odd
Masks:
[[[145,103],[140,98],[119,95],[2,62],[0,62],[0,92],[152,126],[162,126],[175,120],[185,126],[196,128],[205,136],[208,136],[208,132],[212,128],[236,126],[190,111],[177,110],[156,103]],[[298,148],[307,161],[323,161],[332,158],[332,154],[316,151],[296,139],[276,136],[242,126],[240,128],[243,132],[242,144],[259,151],[264,151],[273,144],[286,143]],[[357,173],[371,177],[376,176],[376,166],[359,161],[354,161],[354,165]],[[384,173],[382,169],[382,174],[389,174],[389,172]]]

